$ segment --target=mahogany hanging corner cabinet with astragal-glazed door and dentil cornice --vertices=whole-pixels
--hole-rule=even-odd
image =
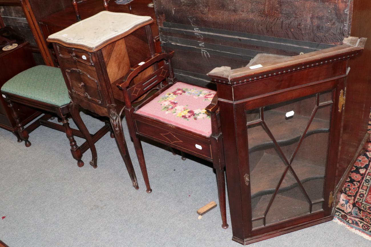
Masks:
[[[352,40],[209,73],[217,83],[233,240],[249,244],[332,220],[348,66],[365,42]]]

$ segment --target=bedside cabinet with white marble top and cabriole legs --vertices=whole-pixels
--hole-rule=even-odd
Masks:
[[[79,107],[109,117],[121,156],[137,189],[137,178],[122,132],[124,99],[116,84],[131,67],[154,54],[152,22],[149,16],[102,11],[47,39],[53,43],[68,87],[72,117],[90,141],[91,165],[96,166],[96,150],[79,115]],[[152,71],[152,67],[148,68],[137,80]]]

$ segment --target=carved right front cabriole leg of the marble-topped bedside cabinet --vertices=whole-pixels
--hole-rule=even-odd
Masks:
[[[110,110],[109,120],[111,121],[111,128],[112,130],[114,130],[116,143],[122,156],[122,159],[124,160],[125,166],[128,170],[129,176],[133,183],[133,187],[138,190],[139,189],[138,181],[137,177],[135,176],[133,164],[131,163],[128,147],[126,146],[124,131],[122,130],[121,118],[116,110],[114,109]]]

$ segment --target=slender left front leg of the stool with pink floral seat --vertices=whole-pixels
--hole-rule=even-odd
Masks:
[[[145,187],[147,188],[146,191],[147,191],[147,193],[151,193],[152,189],[151,189],[151,186],[150,186],[150,180],[148,179],[147,166],[145,164],[142,143],[141,143],[141,141],[139,139],[139,136],[137,135],[137,132],[135,130],[134,121],[131,118],[132,111],[134,111],[133,108],[131,108],[130,110],[125,109],[126,121],[128,123],[130,136],[131,136],[131,138],[133,138],[133,141],[134,141],[135,153],[137,153],[139,166],[140,166],[140,169],[142,171]]]

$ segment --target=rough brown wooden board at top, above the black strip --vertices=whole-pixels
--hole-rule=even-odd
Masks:
[[[342,44],[349,36],[353,1],[155,0],[164,22],[292,40]]]

